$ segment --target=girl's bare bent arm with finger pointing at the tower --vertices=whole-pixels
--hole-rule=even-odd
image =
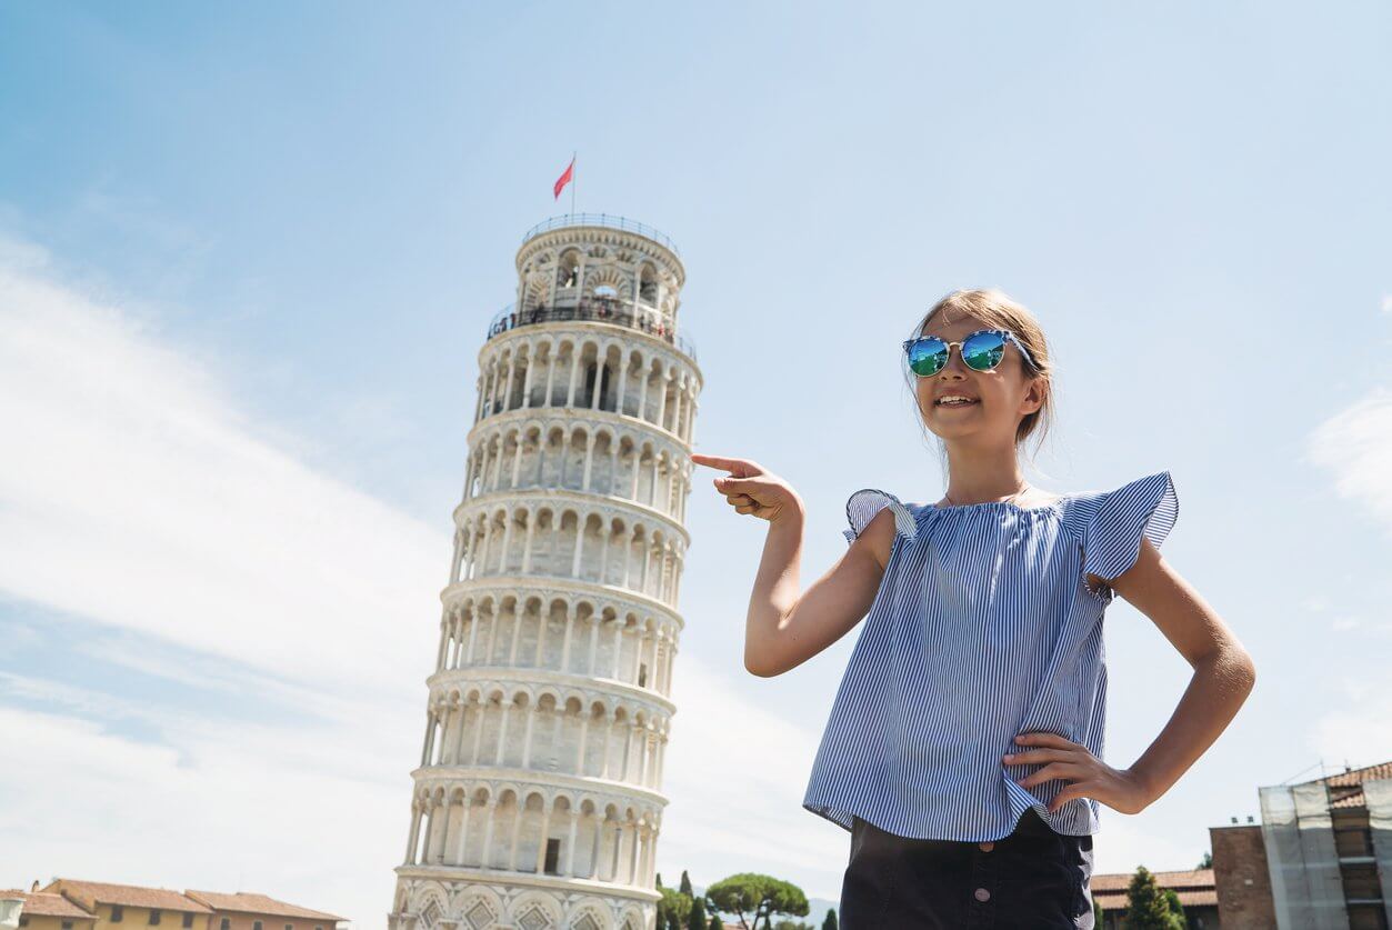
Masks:
[[[729,472],[731,478],[715,479],[715,489],[735,511],[768,521],[745,621],[746,670],[761,678],[781,675],[860,622],[880,589],[894,546],[894,514],[888,508],[876,514],[837,564],[800,593],[806,511],[798,493],[748,459],[693,454],[692,461]]]

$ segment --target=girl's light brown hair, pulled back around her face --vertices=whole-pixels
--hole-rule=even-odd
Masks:
[[[1038,320],[1034,319],[1034,315],[1023,304],[1012,299],[1004,291],[995,288],[958,290],[934,304],[933,309],[913,327],[909,338],[922,336],[928,323],[938,316],[945,317],[947,322],[958,316],[972,316],[981,320],[986,326],[1015,333],[1015,337],[1025,344],[1033,363],[1022,355],[1020,365],[1025,368],[1026,377],[1044,380],[1044,402],[1037,411],[1026,413],[1020,419],[1020,425],[1015,430],[1015,447],[1019,448],[1029,436],[1037,432],[1034,451],[1038,452],[1038,447],[1054,425],[1054,362],[1050,359],[1048,341],[1044,338],[1044,329]],[[913,407],[919,412],[919,425],[924,427],[924,434],[927,434],[928,430],[923,422],[923,411],[917,405],[916,383],[919,376],[909,368],[908,358],[903,358],[903,376],[909,386],[909,395],[915,400]],[[941,439],[938,440],[938,451],[942,458],[942,473],[947,475],[947,446],[942,444]]]

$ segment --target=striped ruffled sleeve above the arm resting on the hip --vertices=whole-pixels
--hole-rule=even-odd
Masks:
[[[1111,582],[1140,557],[1141,536],[1160,547],[1179,517],[1179,497],[1169,472],[1137,478],[1096,496],[1083,525],[1083,581]],[[1111,589],[1104,589],[1109,596]]]

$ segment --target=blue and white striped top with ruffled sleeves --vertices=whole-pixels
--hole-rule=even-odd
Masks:
[[[1015,784],[1043,767],[1005,766],[1016,734],[1055,732],[1102,757],[1102,613],[1140,537],[1160,546],[1179,515],[1169,472],[1044,507],[933,507],[859,490],[855,542],[881,508],[895,539],[884,578],[831,706],[803,807],[851,830],[852,814],[920,840],[984,842],[1034,807],[1054,830],[1098,830],[1097,802],[1058,813],[1065,784]]]

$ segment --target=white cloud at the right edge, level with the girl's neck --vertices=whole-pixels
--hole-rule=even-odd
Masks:
[[[1306,454],[1334,473],[1340,497],[1366,507],[1392,532],[1392,391],[1375,388],[1321,423]]]

